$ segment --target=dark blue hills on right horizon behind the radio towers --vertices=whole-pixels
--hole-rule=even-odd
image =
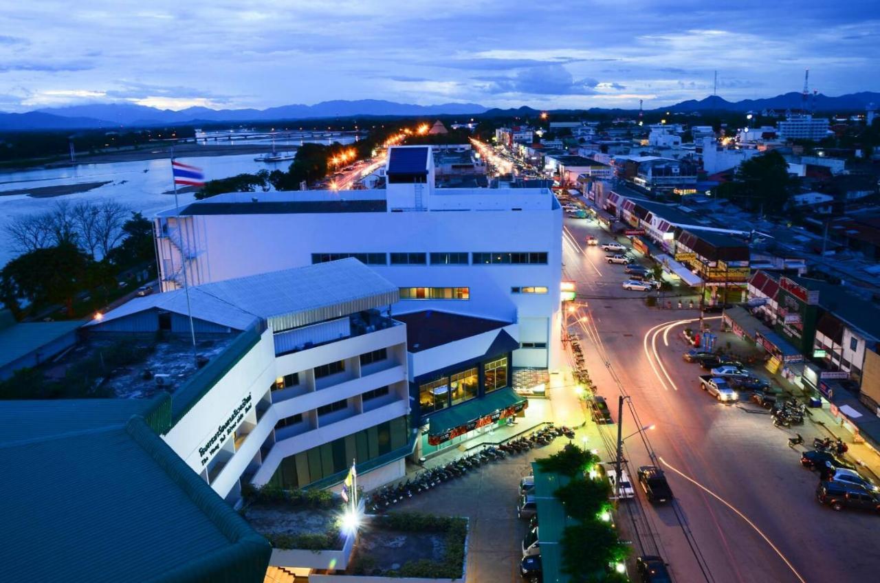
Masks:
[[[816,111],[836,112],[863,110],[869,103],[875,103],[880,107],[880,93],[858,92],[829,97],[819,93],[816,96]],[[809,107],[812,107],[813,97],[810,95]],[[803,96],[798,92],[788,92],[776,97],[759,100],[728,101],[717,95],[709,95],[702,100],[686,100],[669,107],[657,107],[655,111],[675,111],[690,113],[694,111],[760,111],[761,109],[800,109],[803,105]]]

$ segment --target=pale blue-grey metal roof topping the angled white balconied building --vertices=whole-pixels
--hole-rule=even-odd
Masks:
[[[189,290],[193,317],[244,330],[262,318],[275,331],[354,314],[398,301],[400,292],[385,277],[349,257],[334,262],[238,277]],[[160,308],[187,314],[183,290],[133,299],[102,321]],[[90,325],[98,325],[94,321]]]

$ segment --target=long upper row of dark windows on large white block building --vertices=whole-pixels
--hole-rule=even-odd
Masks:
[[[313,253],[312,263],[354,257],[365,265],[546,265],[546,252],[474,251],[473,253]]]

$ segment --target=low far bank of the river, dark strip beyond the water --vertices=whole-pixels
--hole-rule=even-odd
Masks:
[[[278,151],[294,151],[296,146],[284,146],[277,148]],[[175,144],[175,158],[202,158],[214,156],[238,156],[242,154],[264,154],[272,151],[270,144],[229,144],[229,145],[200,145],[200,144]],[[137,162],[141,160],[158,160],[171,158],[171,146],[166,144],[150,145],[149,147],[106,151],[99,154],[77,155],[77,161],[64,160],[18,160],[15,166],[0,167],[0,174],[20,172],[23,170],[36,170],[40,168],[65,168],[81,164],[107,164],[112,162]]]

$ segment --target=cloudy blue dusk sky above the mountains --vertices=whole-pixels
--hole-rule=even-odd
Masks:
[[[5,8],[5,10],[4,10]],[[876,0],[0,0],[0,111],[663,107],[880,90]]]

